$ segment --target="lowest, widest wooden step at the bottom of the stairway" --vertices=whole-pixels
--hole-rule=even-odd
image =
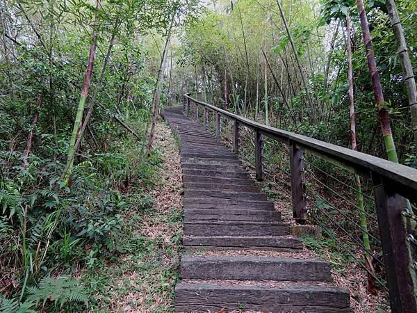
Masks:
[[[347,313],[347,291],[320,284],[288,282],[262,285],[181,282],[175,288],[176,312],[309,312]]]

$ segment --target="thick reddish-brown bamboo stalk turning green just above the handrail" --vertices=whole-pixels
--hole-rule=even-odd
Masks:
[[[381,125],[382,137],[384,138],[385,150],[389,161],[398,163],[397,151],[395,150],[395,143],[391,131],[391,124],[389,121],[389,113],[384,107],[384,94],[382,93],[381,81],[379,81],[379,73],[375,55],[373,51],[372,40],[370,39],[370,31],[368,26],[368,18],[366,17],[365,5],[363,0],[357,0],[357,8],[359,11],[359,19],[361,21],[361,29],[363,35],[363,42],[366,49],[366,59],[368,61],[368,69],[370,78],[372,80],[373,93],[375,102],[378,106],[378,118]]]

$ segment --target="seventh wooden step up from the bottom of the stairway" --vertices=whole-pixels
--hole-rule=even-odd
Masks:
[[[229,199],[229,200],[256,200],[266,201],[265,193],[244,193],[236,191],[209,191],[202,189],[192,189],[190,186],[184,191],[184,196],[190,198],[208,198],[212,200]],[[272,208],[273,208],[272,204]]]

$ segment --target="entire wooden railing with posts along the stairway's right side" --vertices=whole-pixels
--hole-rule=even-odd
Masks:
[[[409,204],[406,200],[417,200],[417,170],[393,163],[369,154],[340,147],[290,131],[284,131],[240,115],[219,109],[184,95],[184,111],[189,115],[190,104],[195,104],[194,118],[199,118],[199,106],[204,109],[204,126],[208,111],[216,115],[216,136],[221,134],[221,116],[233,121],[233,151],[238,154],[240,125],[254,130],[256,179],[263,179],[263,136],[288,145],[291,169],[291,200],[293,217],[297,223],[306,221],[306,192],[304,186],[304,157],[312,154],[350,172],[371,179],[377,209],[379,233],[382,242],[384,263],[389,284],[392,312],[417,312],[416,273],[417,263],[413,262],[410,238],[411,229]],[[411,235],[411,237],[410,237]]]

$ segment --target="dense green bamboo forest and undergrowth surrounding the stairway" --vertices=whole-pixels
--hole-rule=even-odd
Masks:
[[[1,1],[1,310],[98,308],[97,273],[149,246],[124,212],[154,203],[159,98],[163,106],[192,93],[350,147],[347,13],[358,150],[386,158],[354,1],[278,3]],[[416,72],[417,1],[395,3]],[[366,10],[398,157],[416,166],[386,3]],[[277,150],[265,153],[279,163]]]

